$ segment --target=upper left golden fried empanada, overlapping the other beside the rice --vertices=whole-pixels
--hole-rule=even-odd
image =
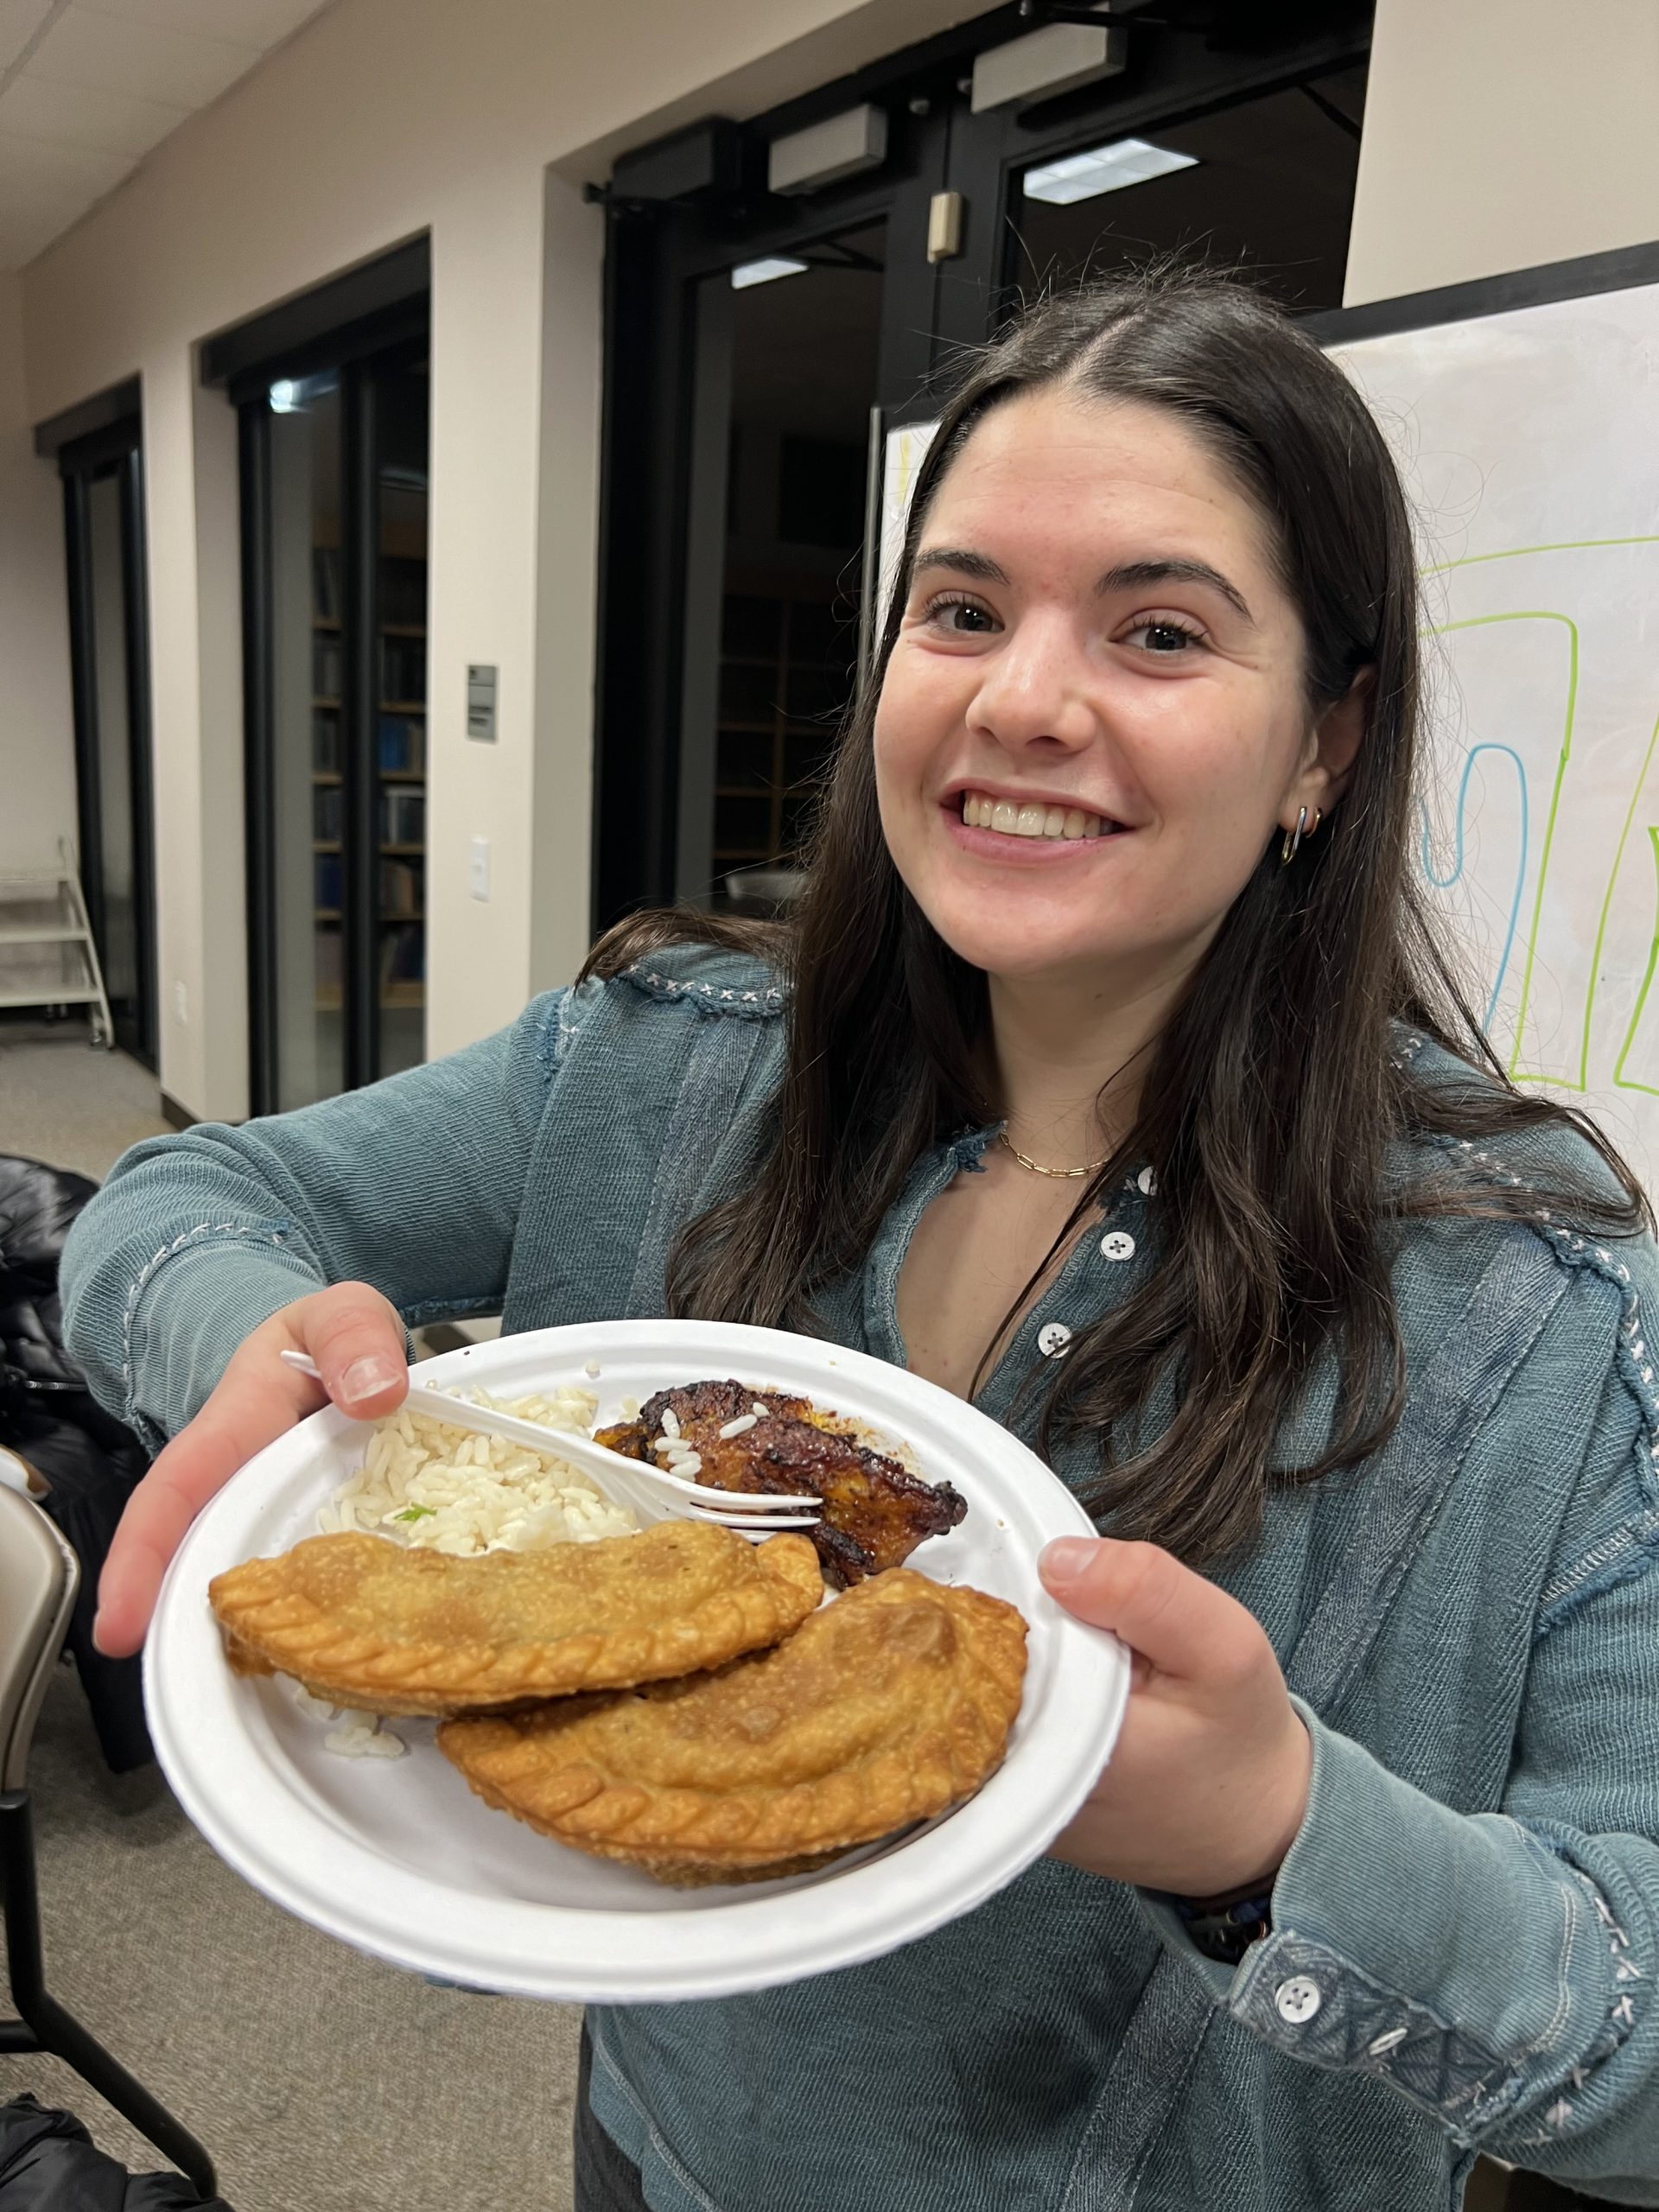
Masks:
[[[803,1535],[712,1522],[451,1557],[314,1535],[208,1584],[239,1672],[294,1674],[361,1712],[469,1712],[717,1668],[823,1597]]]

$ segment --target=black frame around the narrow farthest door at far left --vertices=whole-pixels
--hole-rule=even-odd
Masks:
[[[150,622],[144,562],[144,431],[124,414],[88,436],[58,447],[64,484],[64,555],[69,566],[69,670],[75,712],[75,834],[86,920],[108,978],[104,907],[104,805],[97,743],[97,608],[91,546],[91,489],[115,478],[122,526],[122,597],[126,630],[126,741],[133,803],[133,938],[137,1004],[111,1004],[115,1042],[155,1073],[159,1046],[155,951],[155,763],[150,752]]]

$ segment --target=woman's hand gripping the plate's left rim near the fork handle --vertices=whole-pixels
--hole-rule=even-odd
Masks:
[[[323,1380],[281,1360],[283,1349],[310,1352]],[[139,1648],[184,1531],[257,1451],[330,1398],[354,1420],[378,1420],[407,1389],[403,1321],[369,1283],[332,1283],[261,1321],[128,1498],[97,1582],[97,1648],[111,1659]]]

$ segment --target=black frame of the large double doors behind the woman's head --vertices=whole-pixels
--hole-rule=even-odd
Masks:
[[[1020,296],[1009,190],[1022,168],[1102,137],[1172,128],[1363,62],[1371,9],[1338,0],[1318,31],[1230,49],[1197,31],[1130,33],[1130,66],[1035,108],[971,115],[973,53],[1031,29],[1006,7],[821,86],[743,126],[741,181],[684,201],[608,197],[599,476],[593,925],[675,896],[684,604],[695,447],[697,285],[759,254],[887,223],[883,427],[938,411],[942,372]],[[1334,18],[1334,20],[1332,20]],[[863,100],[887,113],[878,170],[783,199],[759,179],[772,137]],[[929,199],[964,199],[962,252],[927,261]]]

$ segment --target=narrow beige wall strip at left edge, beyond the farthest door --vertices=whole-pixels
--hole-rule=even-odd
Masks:
[[[75,836],[64,509],[29,420],[22,288],[0,276],[0,874],[55,867]]]

